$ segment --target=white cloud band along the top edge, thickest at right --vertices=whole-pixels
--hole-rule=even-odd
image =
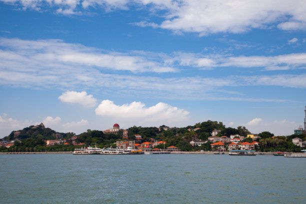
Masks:
[[[164,20],[141,21],[140,26],[161,27],[176,33],[246,32],[252,28],[283,30],[306,28],[304,0],[1,0],[23,9],[55,9],[61,14],[85,13],[91,9],[149,9],[164,12]]]

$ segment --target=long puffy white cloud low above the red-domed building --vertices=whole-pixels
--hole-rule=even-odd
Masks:
[[[129,104],[116,105],[113,101],[102,100],[95,109],[95,113],[101,116],[116,118],[117,120],[125,121],[125,123],[129,121],[131,125],[132,122],[148,125],[177,123],[189,118],[189,112],[186,110],[163,102],[146,107],[145,104],[136,101]]]

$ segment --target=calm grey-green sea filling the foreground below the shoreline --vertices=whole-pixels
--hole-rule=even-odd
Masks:
[[[306,159],[1,154],[0,203],[306,203]]]

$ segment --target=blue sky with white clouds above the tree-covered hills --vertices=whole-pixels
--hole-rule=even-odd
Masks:
[[[221,121],[291,135],[304,0],[0,0],[0,138]]]

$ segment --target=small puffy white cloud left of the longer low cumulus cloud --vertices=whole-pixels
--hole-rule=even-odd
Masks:
[[[84,107],[94,107],[97,104],[96,98],[94,98],[91,94],[87,95],[85,91],[76,92],[67,90],[66,92],[63,92],[58,98],[61,102],[79,103]]]

